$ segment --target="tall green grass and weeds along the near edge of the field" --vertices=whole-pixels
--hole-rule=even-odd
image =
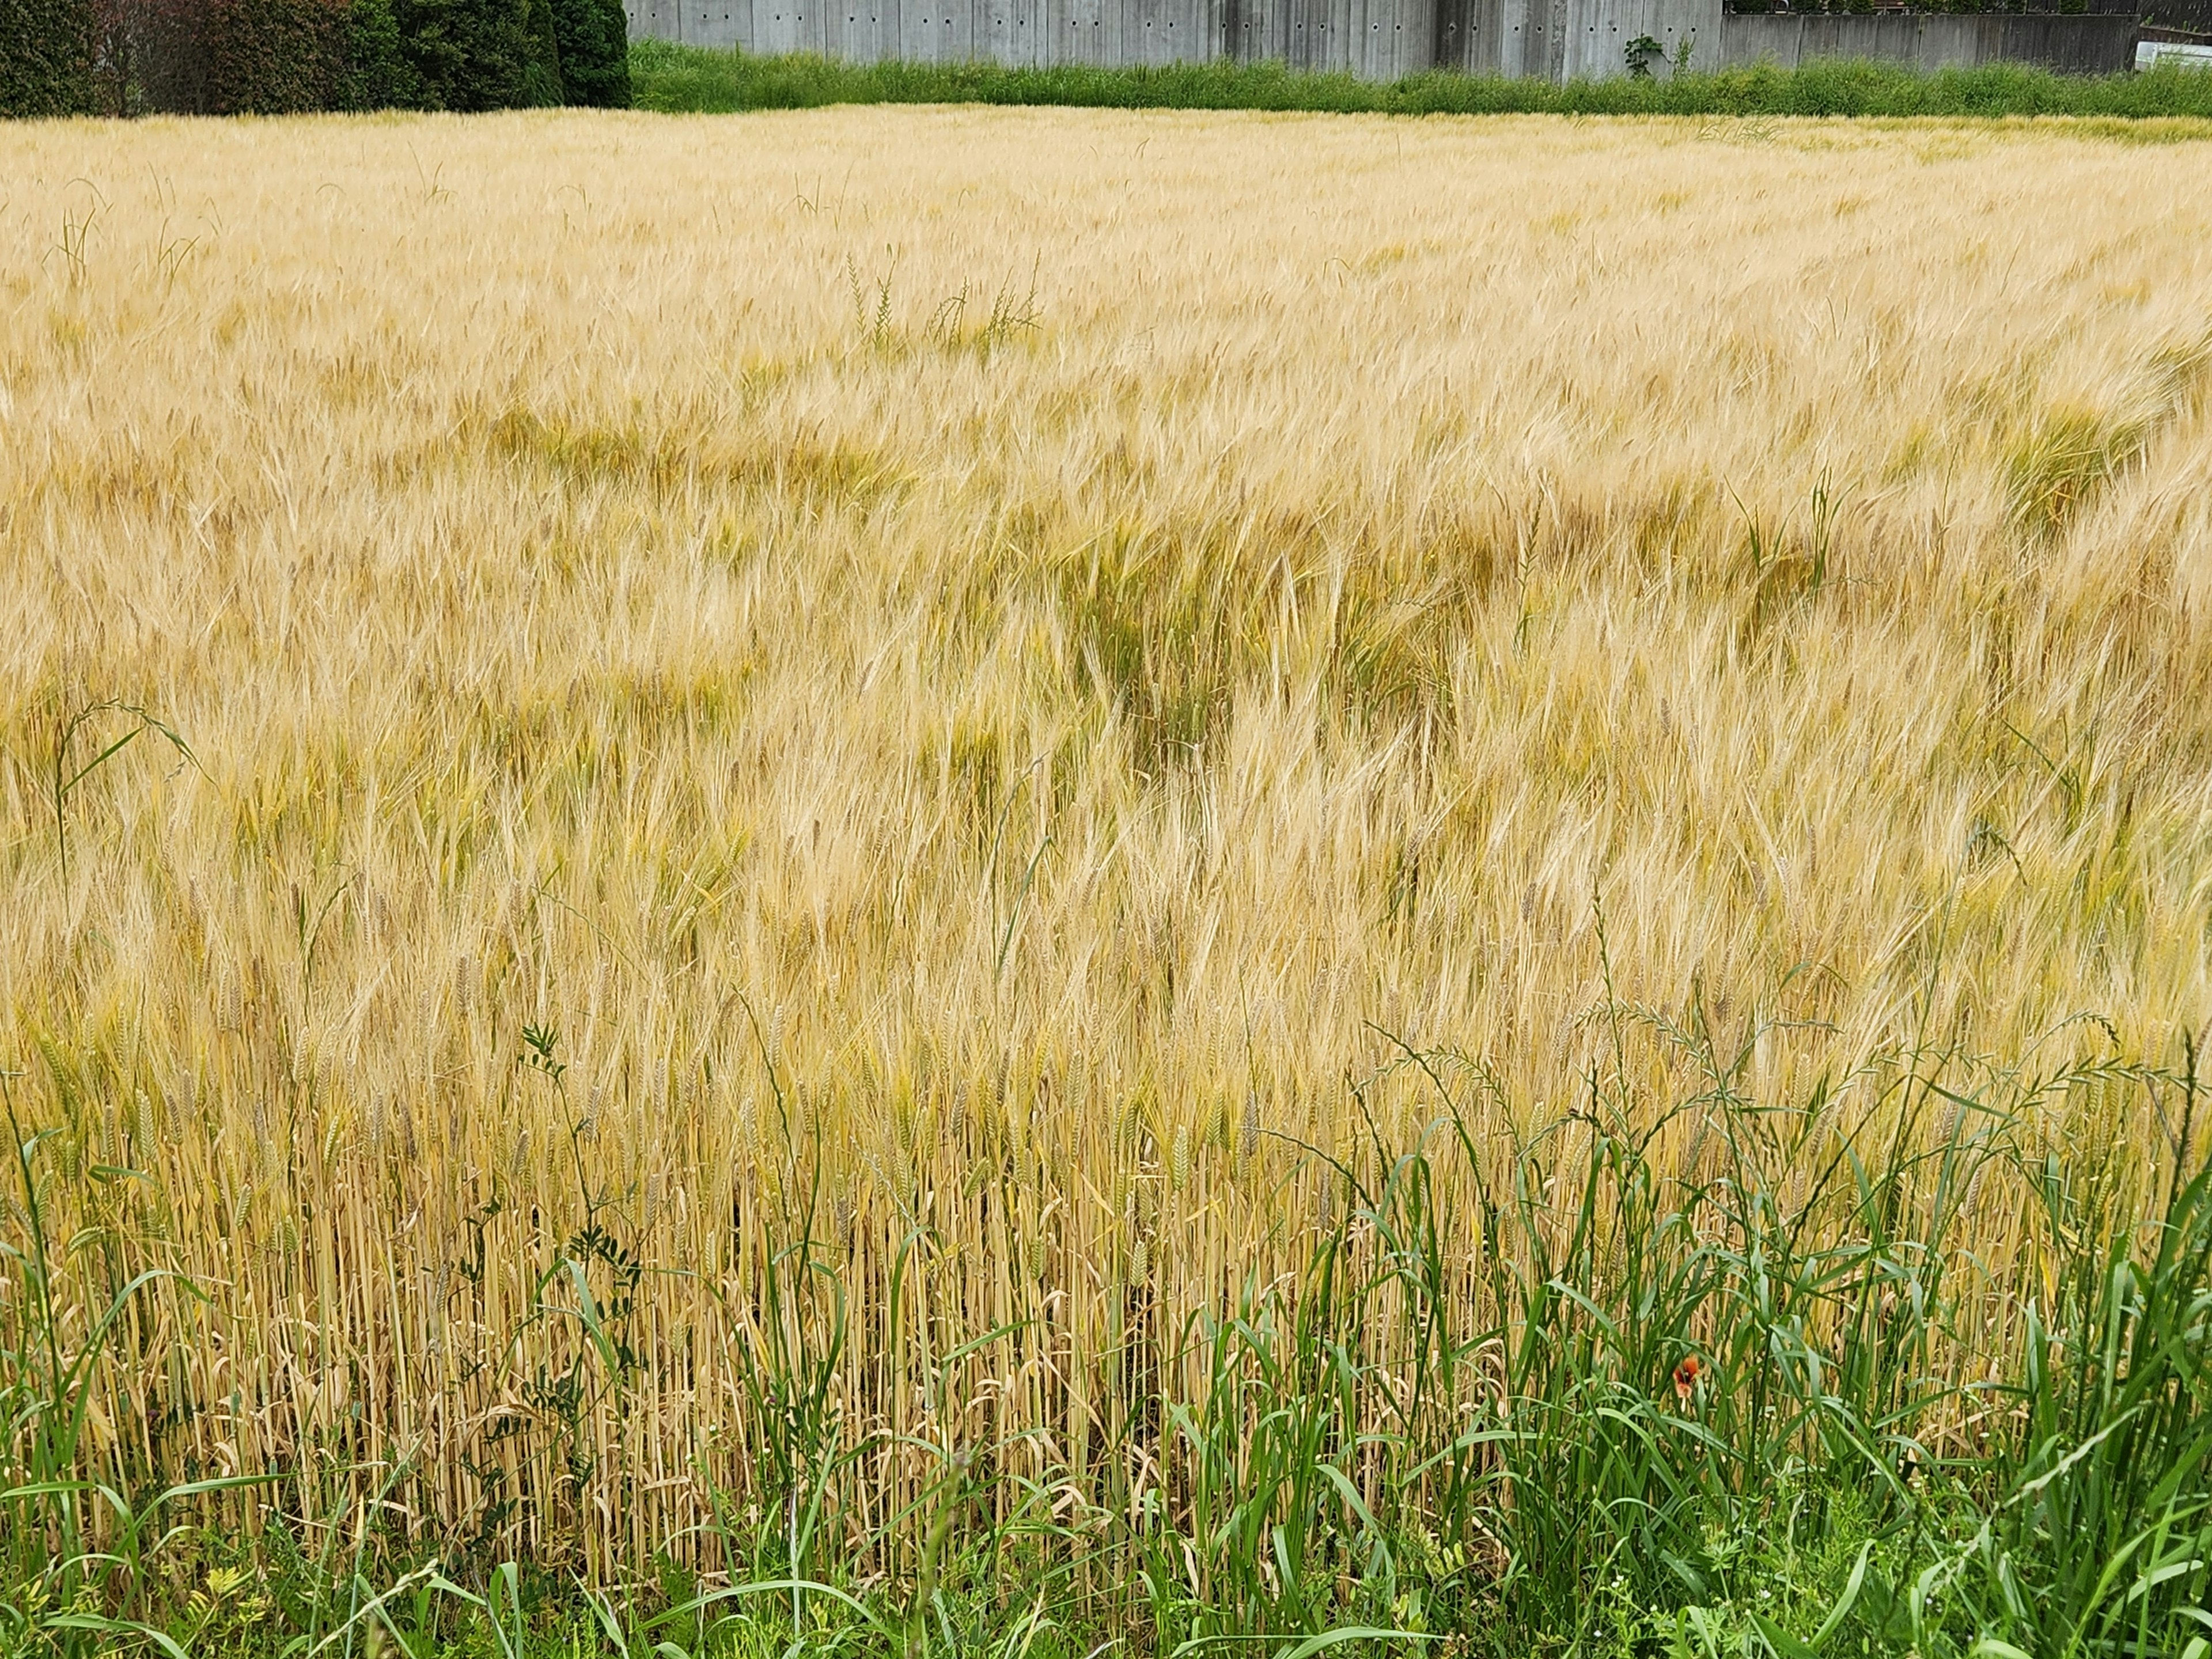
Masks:
[[[1825,1088],[1745,1097],[1703,1018],[1670,1042],[1705,1088],[1655,1110],[1593,1075],[1526,1135],[1480,1062],[1407,1048],[1429,1128],[1329,1159],[1336,1225],[1296,1283],[1177,1334],[1201,1380],[1155,1396],[1124,1484],[947,1440],[911,1511],[854,1531],[869,1440],[830,1389],[843,1303],[794,1239],[748,1378],[761,1500],[714,1520],[732,1571],[692,1577],[670,1540],[602,1586],[237,1478],[73,1478],[93,1358],[144,1279],[44,1237],[44,1194],[80,1177],[11,1102],[0,1655],[2205,1659],[2194,1051],[2037,1082],[1922,1055],[1843,1135]],[[2148,1091],[2168,1144],[2051,1141],[2046,1108],[2084,1091]],[[1668,1172],[1655,1148],[1683,1133]],[[1991,1212],[2024,1217],[2039,1272],[1989,1281]],[[1469,1234],[1480,1287],[1453,1265]],[[84,1272],[124,1276],[66,1325]],[[1969,1365],[1991,1329],[2004,1363]]]

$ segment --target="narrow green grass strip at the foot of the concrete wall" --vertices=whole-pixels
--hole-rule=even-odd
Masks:
[[[630,49],[639,108],[728,113],[825,104],[1057,104],[1091,108],[1259,108],[1383,115],[2104,115],[2212,117],[2212,75],[2055,75],[2026,64],[1922,75],[1863,60],[1803,69],[1723,69],[1672,80],[1564,86],[1429,71],[1396,82],[1283,64],[1164,69],[1004,69],[1000,64],[843,64],[757,58],[641,40]]]

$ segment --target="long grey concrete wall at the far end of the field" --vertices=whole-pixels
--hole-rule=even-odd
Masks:
[[[2132,15],[1723,15],[1721,0],[626,0],[630,35],[849,62],[1172,64],[1234,58],[1396,80],[1595,80],[1650,35],[1697,69],[1882,58],[1920,69],[2135,62]],[[1652,66],[1666,73],[1666,64]]]

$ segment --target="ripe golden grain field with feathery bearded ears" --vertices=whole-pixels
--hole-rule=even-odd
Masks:
[[[2154,1157],[2035,1079],[2212,1013],[2205,157],[7,128],[0,1062],[73,1318],[192,1287],[95,1460],[641,1557],[810,1232],[843,1420],[1082,1475],[1409,1051],[1475,1146],[1710,1051],[1805,1157],[1900,1064]]]

